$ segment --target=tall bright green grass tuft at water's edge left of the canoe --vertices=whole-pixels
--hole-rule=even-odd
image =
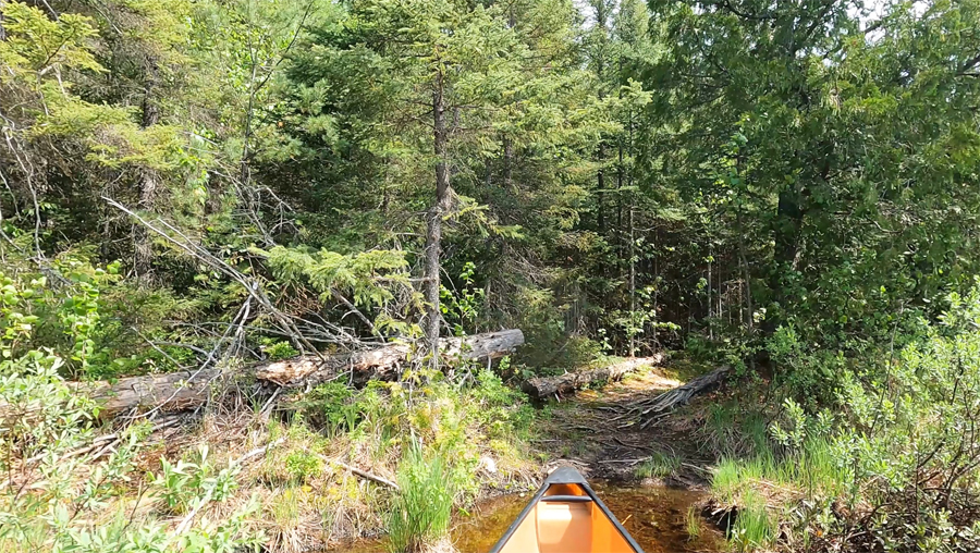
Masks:
[[[418,553],[446,536],[454,496],[451,476],[439,454],[427,458],[418,445],[407,448],[388,524],[393,553]]]

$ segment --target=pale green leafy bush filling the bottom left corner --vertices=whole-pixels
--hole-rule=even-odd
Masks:
[[[107,459],[94,458],[101,447],[84,446],[93,440],[97,406],[59,374],[60,356],[51,349],[25,351],[36,345],[37,320],[25,314],[48,297],[46,282],[0,274],[0,405],[13,414],[0,422],[0,447],[8,452],[0,458],[7,489],[0,493],[0,551],[218,553],[256,543],[245,529],[254,505],[220,521],[186,518],[176,529],[134,518],[123,494],[137,474],[133,462],[149,426],[128,427]],[[76,344],[90,325],[78,319],[70,329]],[[84,357],[88,351],[83,345],[74,352]],[[164,460],[145,492],[159,497],[166,512],[195,512],[224,500],[235,488],[235,475],[233,467],[215,474],[203,451],[196,464]]]

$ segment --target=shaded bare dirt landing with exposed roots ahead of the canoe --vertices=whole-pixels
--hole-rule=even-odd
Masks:
[[[648,418],[642,405],[698,376],[695,367],[646,367],[618,382],[579,391],[552,404],[535,445],[549,457],[546,469],[573,465],[590,479],[661,480],[701,489],[714,458],[700,446],[705,397]]]

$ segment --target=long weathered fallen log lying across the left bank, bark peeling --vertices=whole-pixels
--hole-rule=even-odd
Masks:
[[[440,340],[444,362],[503,357],[524,344],[519,330],[503,330],[475,334],[464,339]],[[367,352],[354,352],[320,357],[306,355],[291,359],[247,367],[229,374],[221,369],[196,372],[182,371],[148,377],[128,377],[113,383],[79,383],[77,390],[87,393],[102,405],[100,416],[112,417],[130,409],[163,411],[184,410],[205,403],[216,385],[222,385],[222,377],[254,377],[281,386],[316,385],[328,380],[347,377],[355,385],[368,380],[394,380],[401,374],[401,365],[411,354],[406,344],[392,344]],[[0,406],[0,418],[11,414]]]

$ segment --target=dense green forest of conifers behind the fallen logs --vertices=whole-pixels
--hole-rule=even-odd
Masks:
[[[7,0],[0,135],[11,382],[520,329],[504,380],[685,349],[852,453],[977,415],[977,0]]]

